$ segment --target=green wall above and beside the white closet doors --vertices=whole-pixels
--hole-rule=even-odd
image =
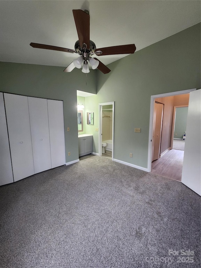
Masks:
[[[70,162],[79,158],[77,90],[96,94],[96,71],[91,71],[86,78],[79,69],[75,68],[71,73],[64,73],[63,69],[0,62],[0,91],[63,101],[66,162]],[[70,156],[68,152],[71,152]]]

